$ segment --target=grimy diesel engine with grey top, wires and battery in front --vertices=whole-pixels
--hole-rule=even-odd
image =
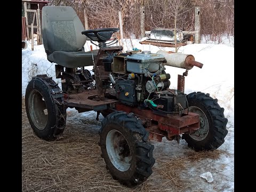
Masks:
[[[169,89],[171,76],[165,73],[166,62],[163,54],[150,51],[103,59],[121,103],[149,107],[159,113],[178,113],[188,108],[186,95]]]

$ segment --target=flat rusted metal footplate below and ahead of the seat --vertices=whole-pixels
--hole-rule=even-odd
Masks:
[[[97,90],[88,90],[82,93],[69,95],[68,99],[65,98],[64,104],[67,107],[79,107],[79,108],[91,109],[96,111],[96,110],[107,109],[111,103],[118,102],[117,100],[114,100],[114,99],[105,99],[105,100],[97,101],[96,99],[97,97],[98,97]],[[92,100],[92,99],[95,99],[95,100]]]

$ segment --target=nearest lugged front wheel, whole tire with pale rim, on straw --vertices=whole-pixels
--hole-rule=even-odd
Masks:
[[[145,181],[155,163],[149,133],[133,113],[115,111],[101,122],[99,145],[106,168],[121,184],[133,187]]]

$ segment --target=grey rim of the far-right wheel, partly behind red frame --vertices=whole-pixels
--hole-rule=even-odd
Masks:
[[[199,126],[200,128],[196,130],[194,133],[189,134],[190,137],[196,141],[204,140],[209,133],[209,122],[208,119],[200,108],[196,106],[189,107],[189,112],[196,113],[199,115]]]

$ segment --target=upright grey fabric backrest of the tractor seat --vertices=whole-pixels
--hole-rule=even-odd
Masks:
[[[86,36],[75,10],[70,6],[44,6],[42,9],[42,36],[47,54],[54,51],[81,51]]]

